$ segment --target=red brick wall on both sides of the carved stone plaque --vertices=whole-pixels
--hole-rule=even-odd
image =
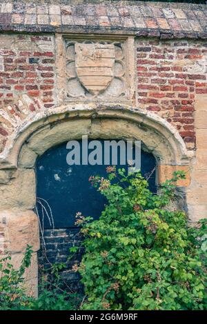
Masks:
[[[195,95],[207,93],[207,43],[139,38],[136,50],[138,107],[175,125],[187,148],[194,149]],[[32,99],[31,112],[40,105],[51,108],[57,104],[55,53],[52,35],[1,34],[0,109],[22,117],[17,99],[23,94]],[[2,119],[1,150],[8,136]]]

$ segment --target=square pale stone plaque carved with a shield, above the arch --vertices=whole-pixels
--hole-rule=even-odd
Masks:
[[[126,41],[66,39],[67,99],[128,99],[127,64]]]

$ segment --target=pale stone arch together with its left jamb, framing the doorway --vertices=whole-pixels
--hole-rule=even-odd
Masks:
[[[36,112],[11,134],[10,145],[0,155],[0,223],[7,250],[19,264],[26,244],[33,246],[28,286],[37,295],[38,220],[34,165],[37,156],[70,139],[137,139],[152,152],[159,173],[188,168],[190,155],[172,125],[155,114],[128,105],[77,104]],[[181,184],[182,185],[182,184]]]

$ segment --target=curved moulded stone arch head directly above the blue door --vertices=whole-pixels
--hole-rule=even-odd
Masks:
[[[81,125],[81,121],[84,123],[86,120],[87,129]],[[70,132],[72,121],[79,121],[77,134],[74,130]],[[32,151],[37,156],[63,142],[63,139],[67,141],[72,136],[75,139],[82,134],[91,138],[139,139],[155,155],[158,164],[188,165],[192,156],[177,130],[155,114],[128,105],[77,103],[36,112],[24,119],[21,125],[14,128],[10,143],[0,154],[0,168],[17,168],[23,144],[35,138],[39,139],[39,147],[36,145]]]

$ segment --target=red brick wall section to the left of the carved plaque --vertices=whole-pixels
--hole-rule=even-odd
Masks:
[[[45,108],[54,105],[55,51],[52,37],[13,35],[6,37],[5,46],[1,36],[0,58],[0,108],[12,105],[15,97],[22,94],[34,101],[40,99]],[[30,110],[34,110],[32,104]]]

